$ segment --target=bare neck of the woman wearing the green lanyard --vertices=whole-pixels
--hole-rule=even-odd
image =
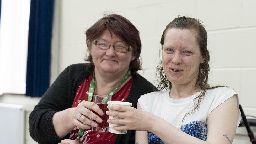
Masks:
[[[128,69],[127,69],[128,71]],[[126,71],[126,72],[127,72]],[[108,95],[113,89],[115,89],[124,78],[126,72],[123,73],[104,73],[98,71],[96,68],[95,72],[95,91],[100,95]],[[130,77],[131,78],[131,77]],[[130,79],[129,78],[129,79]],[[116,92],[129,80],[127,79],[122,85],[118,87]]]

